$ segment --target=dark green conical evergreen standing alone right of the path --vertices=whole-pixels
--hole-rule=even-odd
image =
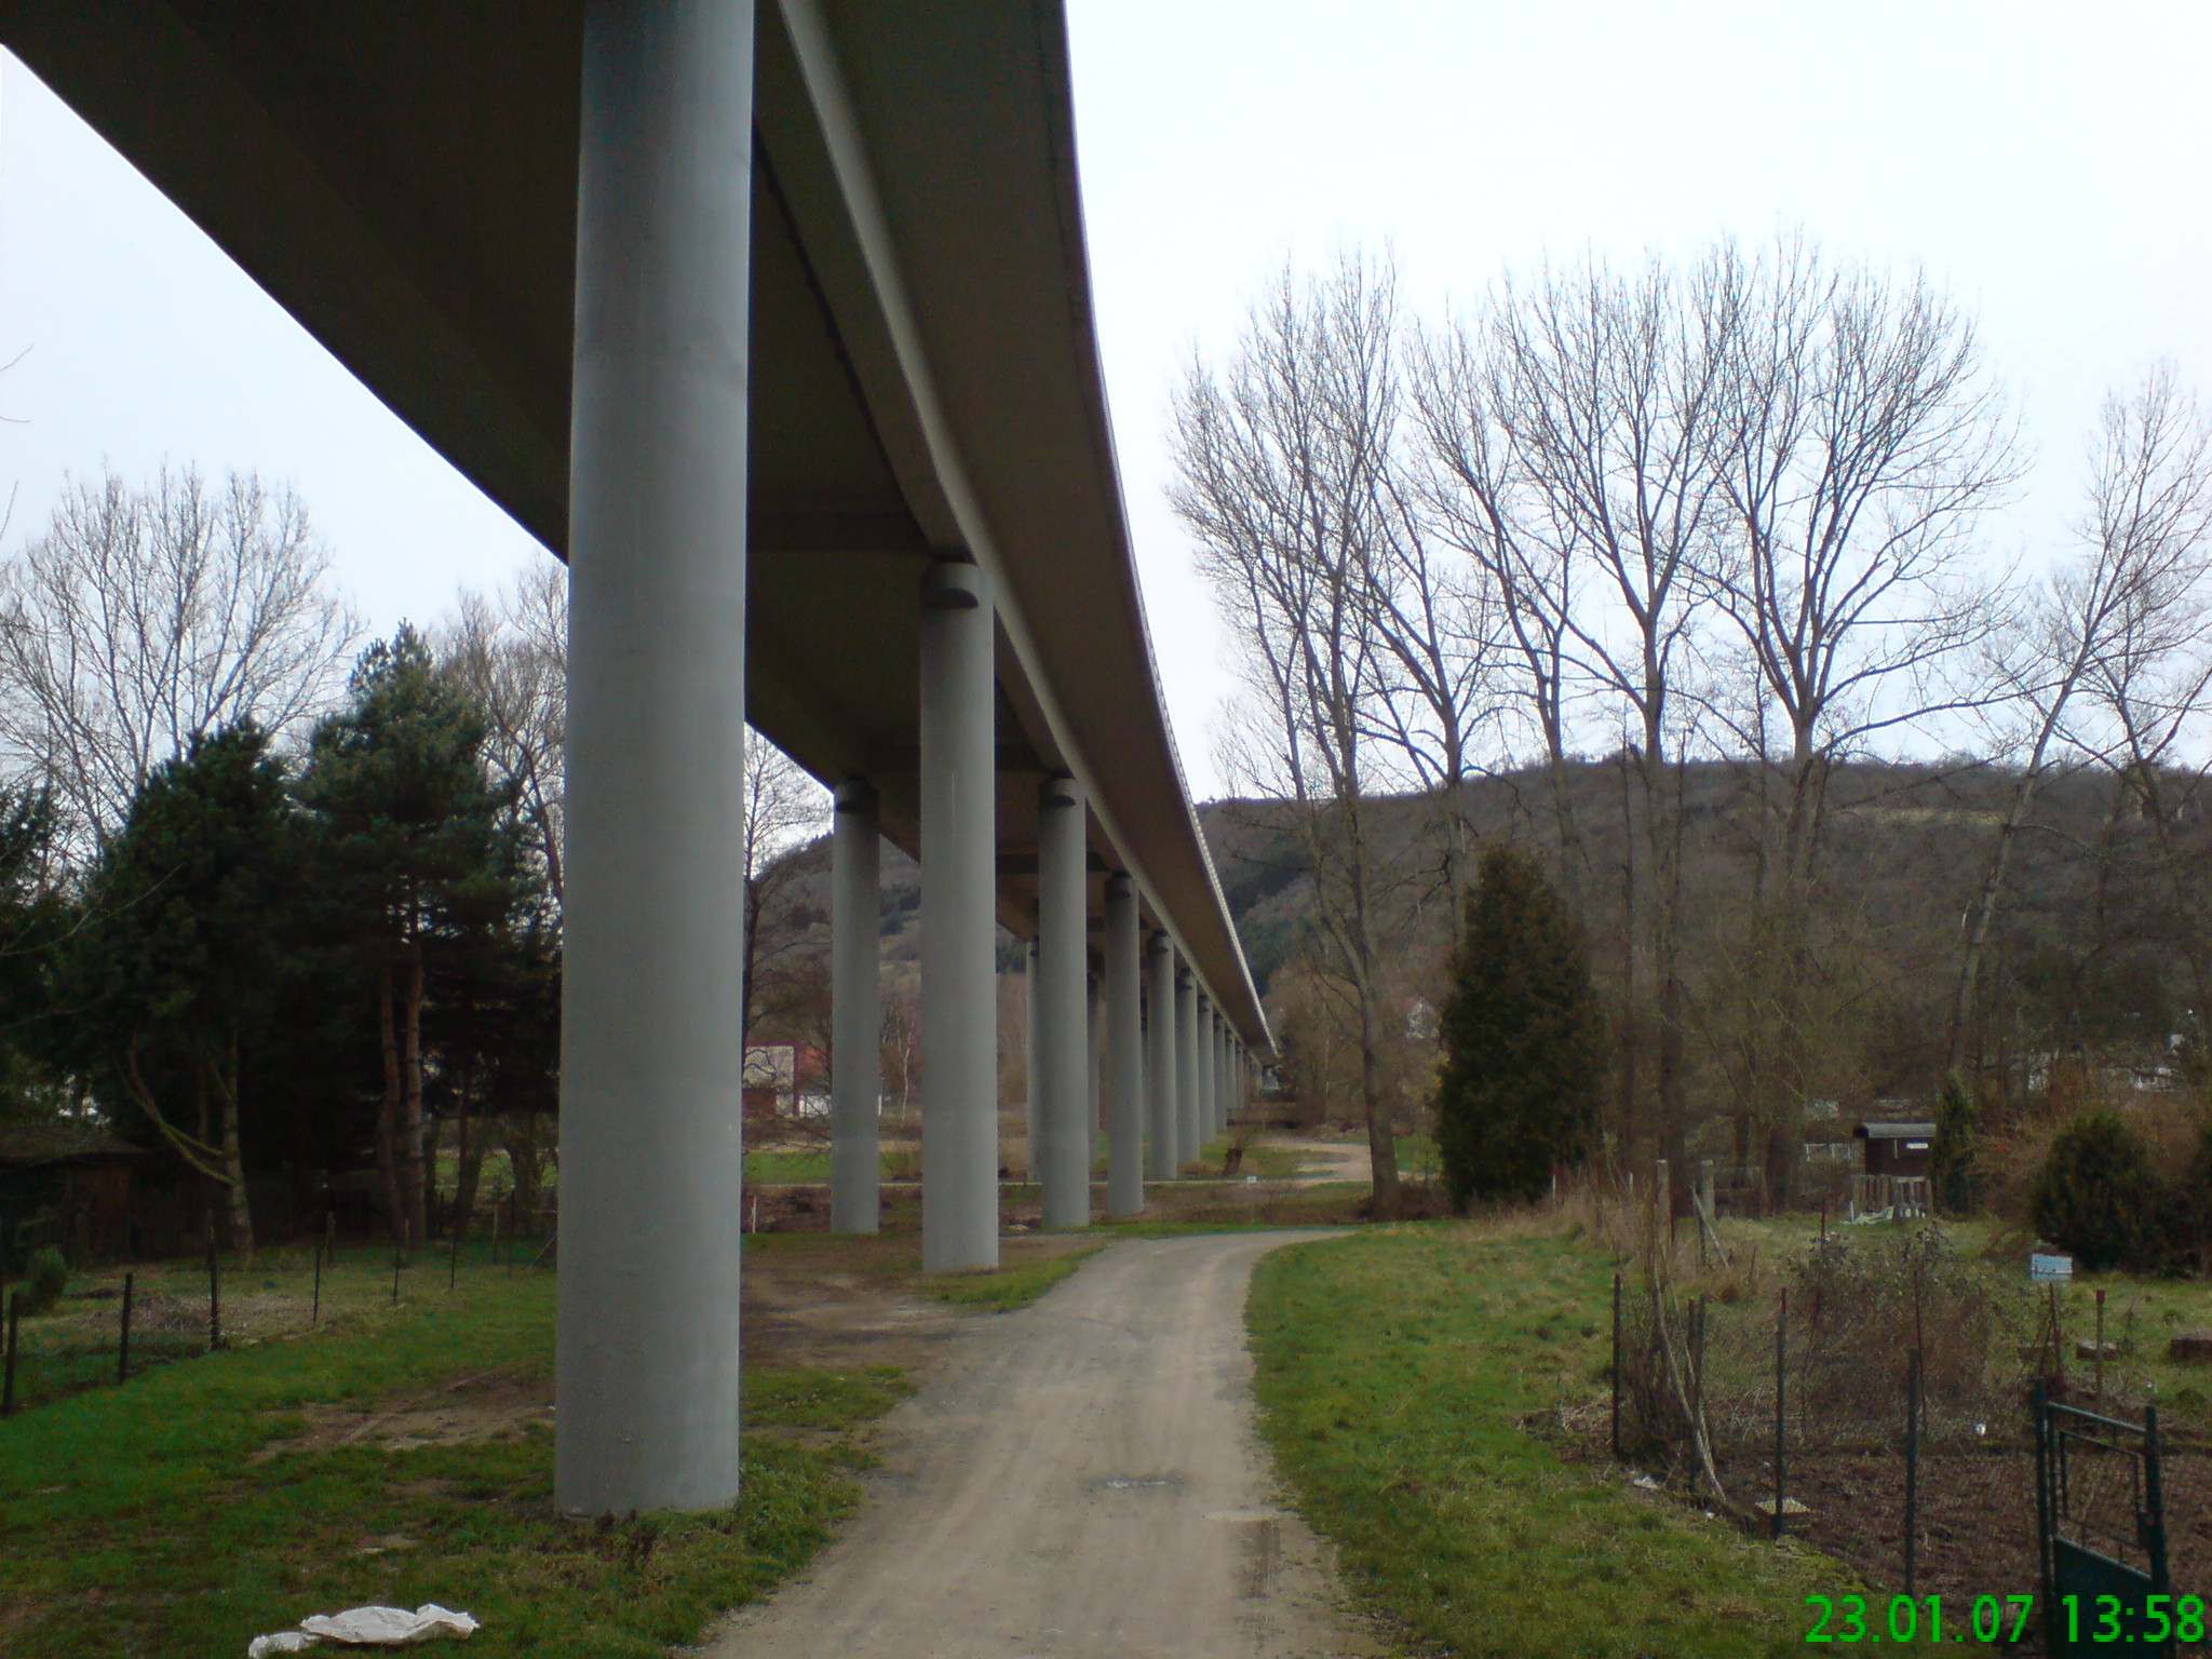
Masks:
[[[1597,993],[1582,931],[1535,860],[1482,854],[1440,1035],[1436,1137],[1451,1203],[1537,1199],[1597,1119]]]

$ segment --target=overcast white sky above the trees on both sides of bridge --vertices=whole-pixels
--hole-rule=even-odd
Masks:
[[[1106,378],[1192,787],[1225,641],[1161,504],[1168,389],[1287,254],[1396,248],[1416,303],[1506,261],[1803,226],[1973,301],[2042,465],[2046,557],[2106,385],[2212,392],[2212,7],[2079,0],[1068,0]],[[292,480],[376,628],[535,542],[363,392],[20,64],[0,66],[7,538],[64,473]]]

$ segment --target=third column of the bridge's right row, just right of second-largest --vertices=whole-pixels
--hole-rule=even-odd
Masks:
[[[1084,787],[1037,790],[1037,1119],[1044,1130],[1044,1225],[1091,1225],[1091,918]]]

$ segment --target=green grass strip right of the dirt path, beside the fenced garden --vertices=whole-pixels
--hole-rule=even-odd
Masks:
[[[1610,1267],[1564,1239],[1449,1223],[1279,1250],[1248,1303],[1263,1433],[1416,1650],[1805,1652],[1805,1597],[1863,1593],[1845,1568],[1522,1427],[1597,1396],[1608,1321]]]

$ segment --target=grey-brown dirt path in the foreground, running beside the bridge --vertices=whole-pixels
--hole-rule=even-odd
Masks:
[[[1365,1655],[1252,1431],[1243,1301],[1327,1234],[1128,1241],[982,1321],[885,1418],[845,1535],[717,1659]]]

